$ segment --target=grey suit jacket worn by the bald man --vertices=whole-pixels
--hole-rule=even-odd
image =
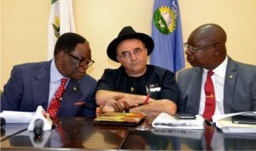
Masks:
[[[177,75],[179,112],[197,115],[203,69],[193,67]],[[224,80],[224,113],[256,110],[256,66],[228,59]]]

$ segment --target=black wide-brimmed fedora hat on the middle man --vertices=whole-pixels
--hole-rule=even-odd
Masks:
[[[117,56],[116,56],[116,48],[119,44],[119,42],[124,41],[125,39],[139,39],[143,41],[145,44],[146,48],[148,49],[148,55],[152,53],[153,48],[154,48],[154,41],[153,39],[143,33],[136,32],[132,29],[131,26],[125,26],[120,32],[119,36],[113,39],[112,42],[109,43],[108,49],[107,49],[107,54],[109,59],[112,59],[115,62],[118,62]]]

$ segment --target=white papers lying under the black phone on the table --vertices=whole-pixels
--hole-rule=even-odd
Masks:
[[[195,115],[194,120],[177,120],[174,116],[160,113],[152,122],[155,128],[172,129],[203,129],[204,119],[201,115]]]

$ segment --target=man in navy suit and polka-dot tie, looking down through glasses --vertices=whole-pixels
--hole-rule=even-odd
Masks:
[[[95,116],[96,80],[86,74],[94,61],[83,36],[66,33],[55,44],[54,59],[15,65],[1,95],[1,111],[35,111],[49,108],[55,92],[66,78],[56,116]]]

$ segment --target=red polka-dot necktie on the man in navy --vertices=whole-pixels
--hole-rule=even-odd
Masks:
[[[57,112],[61,106],[61,97],[62,94],[64,92],[64,87],[67,83],[67,79],[66,78],[62,78],[61,79],[61,86],[58,88],[57,92],[55,93],[54,98],[51,99],[51,102],[49,104],[49,109],[47,110],[47,112],[49,113],[49,116],[51,118],[55,118],[55,116],[57,115]]]

